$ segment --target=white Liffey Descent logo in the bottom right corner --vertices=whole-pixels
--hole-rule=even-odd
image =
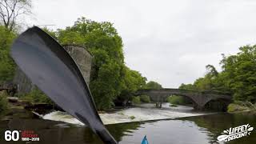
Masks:
[[[230,127],[230,129],[223,130],[222,135],[218,136],[218,141],[229,142],[237,138],[246,137],[250,135],[251,131],[254,130],[254,127],[250,126],[249,124]]]

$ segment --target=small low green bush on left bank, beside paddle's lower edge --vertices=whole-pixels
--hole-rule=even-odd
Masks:
[[[22,99],[24,100],[28,100],[30,102],[34,102],[34,103],[49,103],[49,104],[54,104],[54,102],[52,102],[50,100],[50,98],[48,98],[46,96],[46,94],[44,94],[41,90],[39,90],[37,87],[35,87],[33,90],[30,91],[29,94],[23,95],[21,96]]]

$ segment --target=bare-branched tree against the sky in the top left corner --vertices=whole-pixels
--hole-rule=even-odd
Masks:
[[[30,14],[30,0],[0,0],[0,22],[7,30],[14,30],[17,18],[22,14]]]

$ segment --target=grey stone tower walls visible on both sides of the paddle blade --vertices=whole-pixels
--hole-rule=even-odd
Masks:
[[[83,47],[80,46],[63,46],[64,49],[70,54],[77,63],[78,68],[82,72],[83,78],[87,84],[90,82],[90,70],[92,55]],[[18,94],[29,93],[34,88],[34,84],[30,82],[30,79],[26,77],[26,74],[17,67],[14,75],[14,84],[18,86]]]

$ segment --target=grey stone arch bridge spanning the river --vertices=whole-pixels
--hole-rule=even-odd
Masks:
[[[213,100],[224,100],[224,102],[230,103],[232,97],[229,93],[223,93],[218,91],[210,90],[184,90],[184,89],[159,89],[159,90],[138,90],[135,96],[138,95],[148,95],[152,102],[160,103],[166,101],[166,98],[170,95],[179,95],[186,98],[190,98],[194,104],[194,109],[202,110],[206,106],[207,102]],[[157,105],[158,106],[158,105]]]

